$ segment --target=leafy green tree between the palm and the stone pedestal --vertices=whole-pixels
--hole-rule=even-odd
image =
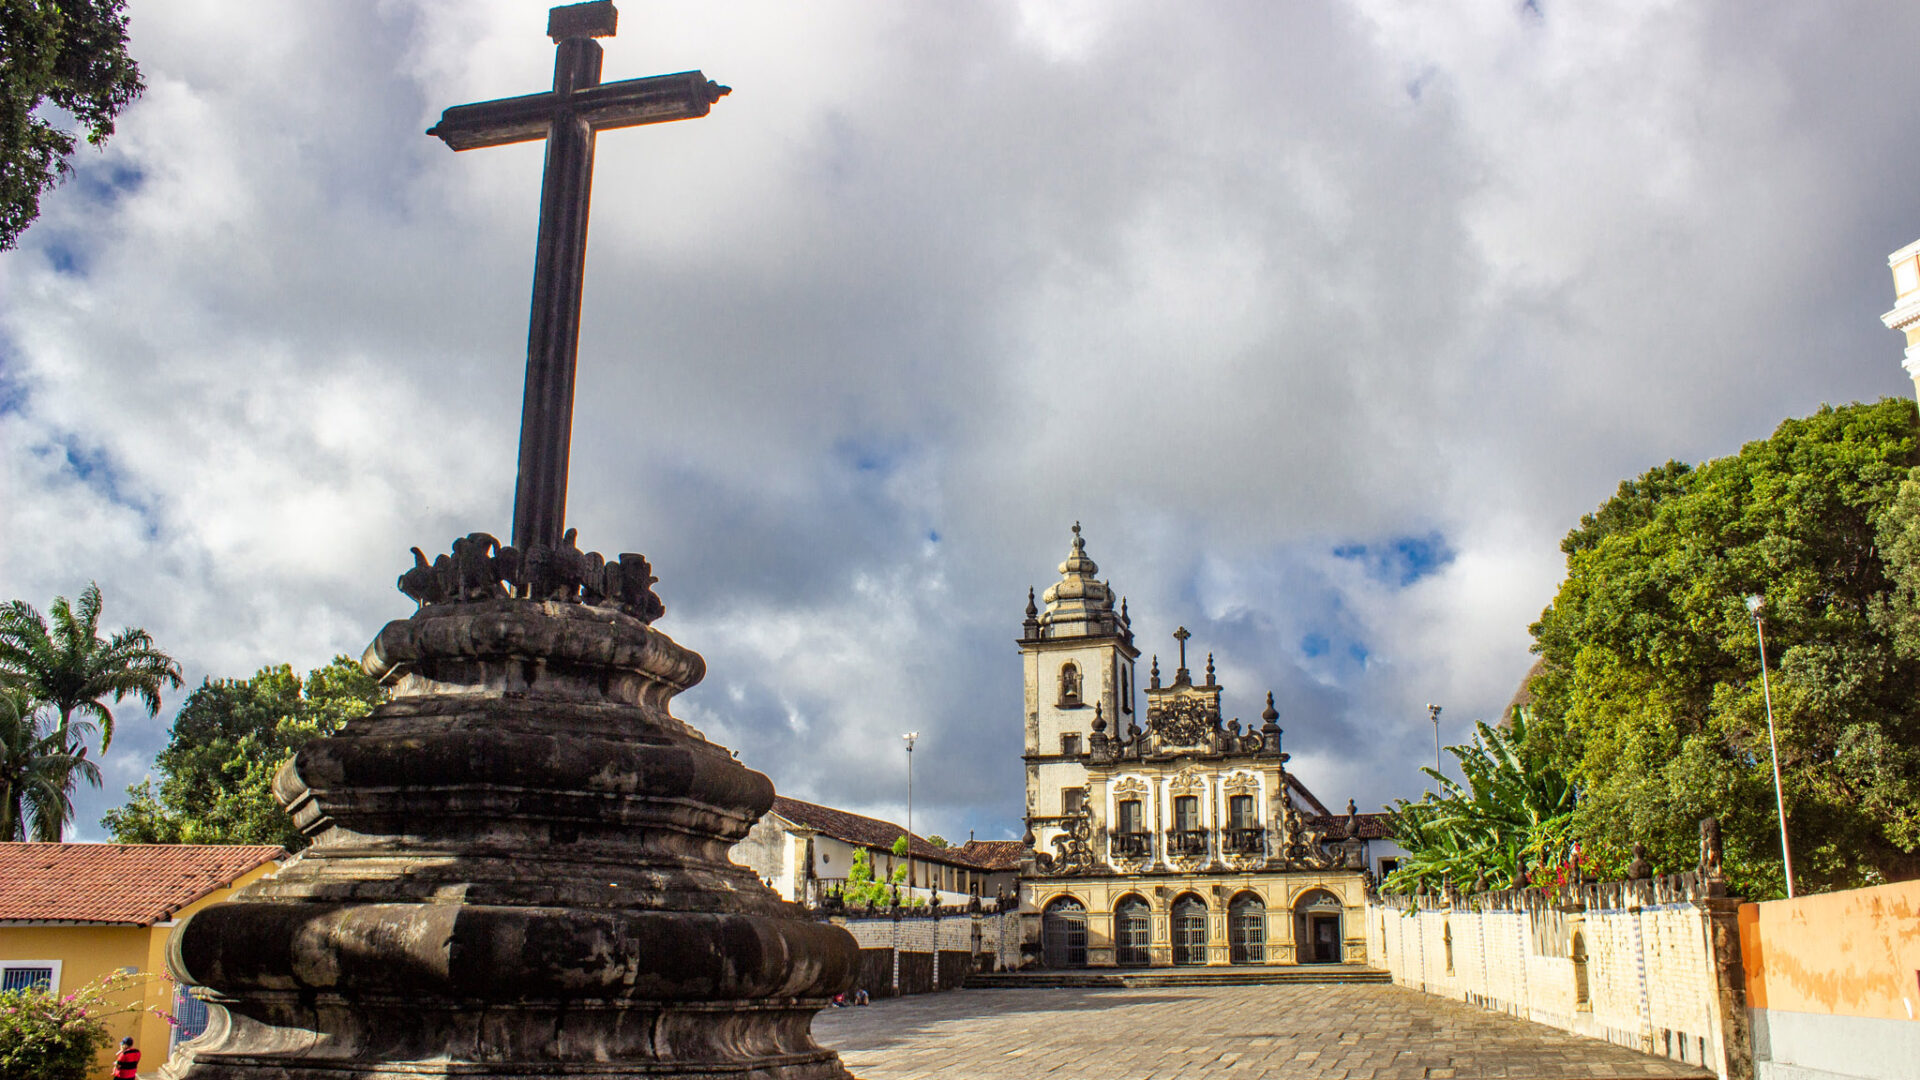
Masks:
[[[202,682],[154,757],[152,778],[127,788],[127,803],[102,826],[121,844],[307,846],[273,798],[273,776],[301,746],[367,715],[386,692],[348,657],[294,675],[263,667],[253,678]]]

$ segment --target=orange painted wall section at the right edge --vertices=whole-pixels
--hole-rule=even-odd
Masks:
[[[1740,905],[1755,1009],[1920,1022],[1920,882]]]

